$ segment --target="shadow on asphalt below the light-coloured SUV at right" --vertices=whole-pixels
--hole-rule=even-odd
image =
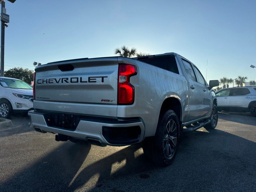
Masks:
[[[252,116],[251,113],[222,111],[219,112],[219,119],[247,125],[256,125],[256,117]]]

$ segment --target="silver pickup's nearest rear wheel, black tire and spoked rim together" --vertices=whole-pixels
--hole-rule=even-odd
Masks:
[[[168,110],[158,122],[155,136],[143,142],[143,152],[153,163],[167,166],[177,154],[179,136],[177,115],[173,110]]]

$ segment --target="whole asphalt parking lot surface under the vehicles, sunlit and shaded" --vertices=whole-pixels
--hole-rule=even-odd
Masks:
[[[157,167],[141,145],[79,146],[29,128],[0,128],[0,191],[256,191],[256,118],[219,113],[215,130],[183,135],[174,162]]]

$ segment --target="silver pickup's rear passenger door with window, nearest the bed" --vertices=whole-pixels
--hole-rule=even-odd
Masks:
[[[192,64],[184,58],[182,58],[182,62],[187,72],[189,83],[189,122],[202,117],[203,88],[202,85],[197,82]]]

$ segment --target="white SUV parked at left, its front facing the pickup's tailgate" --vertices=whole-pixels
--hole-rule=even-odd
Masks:
[[[12,112],[32,109],[33,87],[19,79],[0,77],[0,117],[8,118]]]

